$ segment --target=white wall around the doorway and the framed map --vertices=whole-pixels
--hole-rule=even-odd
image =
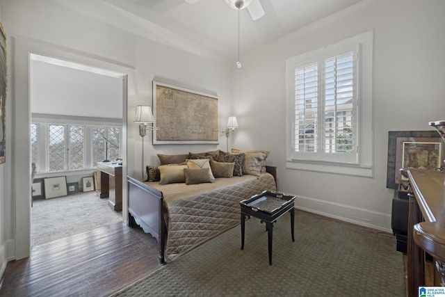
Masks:
[[[119,10],[111,9],[102,1],[15,1],[0,0],[3,26],[13,52],[8,57],[14,61],[13,74],[8,88],[11,117],[26,119],[29,109],[29,53],[63,58],[128,75],[127,168],[128,175],[140,178],[142,138],[138,125],[133,123],[136,105],[152,105],[152,80],[167,78],[186,88],[207,90],[219,97],[220,125],[225,125],[231,113],[230,67],[224,58],[209,53],[199,45],[182,42],[180,36],[168,32],[152,31],[143,19],[131,19]],[[55,25],[56,24],[56,25]],[[12,63],[10,64],[12,65]],[[12,66],[10,66],[12,67]],[[128,112],[127,112],[128,109]],[[26,131],[29,123],[15,122],[15,130]],[[29,135],[11,131],[14,143],[13,166],[4,172],[0,182],[11,195],[1,200],[5,216],[0,244],[8,242],[6,259],[26,257],[29,253],[29,202],[30,189],[26,184],[29,174]],[[157,163],[156,152],[188,152],[214,150],[216,145],[171,146],[152,145],[145,137],[145,163]],[[223,143],[225,146],[225,143]],[[14,169],[12,169],[14,168]],[[2,170],[3,168],[0,168]],[[1,172],[0,172],[1,173]],[[5,175],[13,175],[8,180]],[[1,177],[1,176],[0,176]],[[1,193],[0,193],[1,198]],[[1,255],[1,253],[0,253]],[[1,271],[0,271],[1,272]]]

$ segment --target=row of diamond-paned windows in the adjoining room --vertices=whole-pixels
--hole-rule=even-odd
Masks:
[[[33,123],[31,159],[38,172],[94,168],[106,159],[105,139],[108,159],[120,157],[120,134],[120,127]]]

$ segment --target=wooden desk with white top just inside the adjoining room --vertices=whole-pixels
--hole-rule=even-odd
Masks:
[[[100,198],[108,197],[108,206],[122,211],[122,165],[97,162],[97,170],[100,170]]]

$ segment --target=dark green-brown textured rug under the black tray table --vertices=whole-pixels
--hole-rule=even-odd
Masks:
[[[296,211],[267,232],[257,218],[161,266],[113,296],[405,296],[403,255],[392,234]]]

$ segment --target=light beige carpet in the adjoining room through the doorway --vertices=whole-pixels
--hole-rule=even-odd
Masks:
[[[122,221],[122,212],[108,207],[108,198],[94,191],[35,200],[31,207],[31,246]]]

